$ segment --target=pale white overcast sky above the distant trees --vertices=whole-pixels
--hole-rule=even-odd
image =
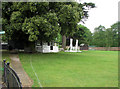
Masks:
[[[85,21],[91,32],[95,27],[103,25],[109,28],[118,21],[118,2],[120,0],[80,0],[80,2],[93,2],[96,8],[89,11],[89,18]],[[81,23],[82,24],[82,23]]]

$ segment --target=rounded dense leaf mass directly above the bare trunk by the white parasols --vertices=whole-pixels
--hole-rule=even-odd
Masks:
[[[81,15],[78,8],[78,3],[63,3],[58,12],[59,23],[62,28],[62,35],[69,35],[73,33],[77,28],[77,23],[81,20]]]

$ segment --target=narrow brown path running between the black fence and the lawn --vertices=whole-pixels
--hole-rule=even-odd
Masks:
[[[10,54],[10,59],[11,59],[11,66],[17,73],[18,77],[20,78],[22,87],[32,87],[33,81],[29,78],[27,73],[22,68],[22,64],[19,60],[18,54]]]

